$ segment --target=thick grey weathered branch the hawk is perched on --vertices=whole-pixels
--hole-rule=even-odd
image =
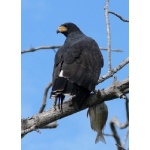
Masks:
[[[120,89],[120,91],[122,91],[122,93],[124,94],[128,93],[129,90],[127,89],[129,89],[129,79],[127,78],[121,81],[120,84],[118,84],[118,88]],[[24,119],[24,121],[22,122],[22,130],[26,131],[26,129],[30,129],[30,132],[34,131],[35,130],[34,125],[36,125],[36,129],[39,129],[58,119],[64,118],[66,116],[79,112],[83,109],[86,109],[89,106],[99,104],[103,101],[113,100],[115,98],[117,98],[117,96],[114,92],[114,84],[112,84],[110,87],[101,90],[100,94],[92,93],[80,110],[75,110],[72,101],[68,100],[63,103],[63,107],[62,107],[63,112],[51,108],[48,111],[34,115],[31,118]]]

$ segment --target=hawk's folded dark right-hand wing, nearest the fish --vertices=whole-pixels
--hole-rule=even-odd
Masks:
[[[72,83],[92,91],[97,84],[103,57],[96,42],[91,38],[79,40],[63,55],[63,76]]]

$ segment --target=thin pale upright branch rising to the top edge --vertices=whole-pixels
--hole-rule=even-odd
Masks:
[[[110,34],[110,22],[108,15],[108,4],[109,0],[106,0],[104,11],[106,19],[106,30],[107,30],[107,48],[108,48],[108,72],[111,71],[111,34]]]

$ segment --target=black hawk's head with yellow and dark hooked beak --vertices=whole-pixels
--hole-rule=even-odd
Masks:
[[[60,25],[57,29],[57,33],[62,33],[64,34],[66,37],[75,31],[80,31],[80,29],[73,23],[64,23],[62,25]]]

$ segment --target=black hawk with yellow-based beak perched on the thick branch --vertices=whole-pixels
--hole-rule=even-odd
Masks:
[[[65,95],[70,95],[79,109],[98,83],[103,56],[96,41],[75,24],[64,23],[57,33],[64,34],[66,40],[55,55],[50,98],[55,98],[55,105],[59,100],[62,109]]]

